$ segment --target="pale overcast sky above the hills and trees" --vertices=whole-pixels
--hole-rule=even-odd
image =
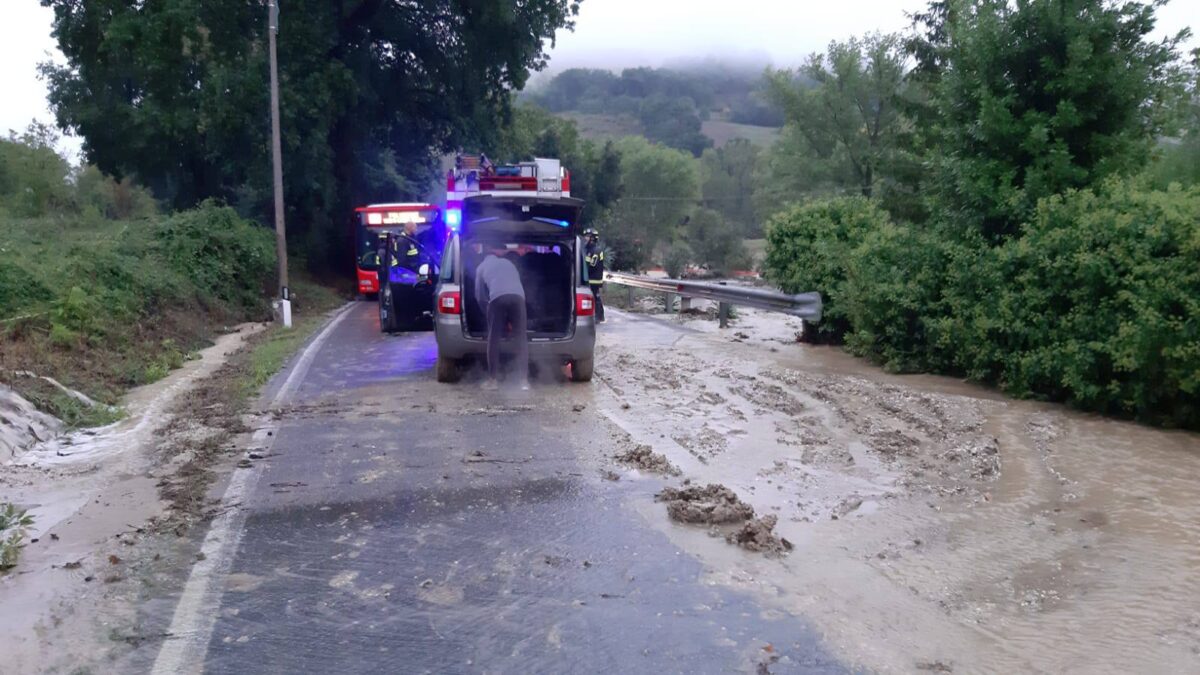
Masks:
[[[50,37],[50,10],[37,0],[0,4],[2,133],[22,130],[32,119],[52,121],[37,64],[61,55]],[[551,67],[659,66],[706,56],[791,66],[830,40],[900,30],[908,23],[905,12],[924,5],[924,0],[584,0],[575,32],[559,35]],[[1200,29],[1200,0],[1174,0],[1160,10],[1160,35],[1184,26]],[[1200,38],[1193,37],[1190,47],[1198,46]]]

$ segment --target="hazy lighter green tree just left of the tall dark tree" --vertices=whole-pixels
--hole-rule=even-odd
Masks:
[[[904,64],[900,37],[875,34],[830,42],[798,71],[768,71],[768,95],[786,113],[791,147],[799,145],[791,161],[820,162],[811,178],[864,197],[893,180],[889,169],[907,131],[898,100]]]

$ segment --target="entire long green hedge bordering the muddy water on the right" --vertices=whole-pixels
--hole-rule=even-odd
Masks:
[[[820,202],[772,221],[767,269],[821,291],[822,329],[889,369],[1200,428],[1200,187],[1051,197],[1000,246],[938,232]]]

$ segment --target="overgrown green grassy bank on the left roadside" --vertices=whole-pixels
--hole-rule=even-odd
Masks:
[[[226,327],[268,318],[274,274],[270,232],[212,204],[130,221],[0,214],[0,380],[20,389],[11,371],[31,371],[115,404]]]

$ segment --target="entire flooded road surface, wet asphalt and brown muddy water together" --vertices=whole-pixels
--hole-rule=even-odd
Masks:
[[[1194,434],[887,375],[750,310],[612,311],[592,386],[524,394],[340,316],[221,455],[204,527],[120,534],[128,579],[55,607],[53,668],[18,673],[1200,671]],[[163,508],[136,478],[104,508]],[[665,488],[780,545],[676,522]],[[62,550],[26,578],[98,589],[76,577],[109,562]]]

